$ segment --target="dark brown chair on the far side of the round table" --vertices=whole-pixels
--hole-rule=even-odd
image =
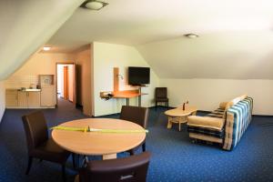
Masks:
[[[119,118],[134,122],[140,126],[143,126],[144,128],[147,128],[148,108],[141,107],[141,106],[122,106]],[[141,144],[141,146],[142,146],[142,151],[145,152],[146,141],[144,141]],[[128,151],[131,156],[134,155],[134,150],[136,148],[133,148]]]

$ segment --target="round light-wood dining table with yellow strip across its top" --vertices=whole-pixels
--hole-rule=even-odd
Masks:
[[[135,123],[111,118],[87,118],[69,121],[60,126],[86,127],[96,129],[144,129]],[[80,155],[99,155],[103,159],[116,158],[116,153],[124,152],[140,145],[146,133],[101,133],[54,129],[52,137],[56,144]]]

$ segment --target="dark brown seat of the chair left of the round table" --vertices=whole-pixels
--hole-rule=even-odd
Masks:
[[[49,138],[45,143],[35,147],[30,155],[56,163],[65,163],[69,154],[68,151],[59,147],[52,138]]]

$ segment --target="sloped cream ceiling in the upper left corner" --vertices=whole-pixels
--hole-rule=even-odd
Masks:
[[[0,80],[22,66],[83,0],[0,1]]]

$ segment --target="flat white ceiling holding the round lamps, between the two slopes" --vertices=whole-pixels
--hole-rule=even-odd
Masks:
[[[70,51],[93,41],[143,45],[199,35],[273,28],[270,0],[105,0],[100,11],[79,7],[47,45]]]

